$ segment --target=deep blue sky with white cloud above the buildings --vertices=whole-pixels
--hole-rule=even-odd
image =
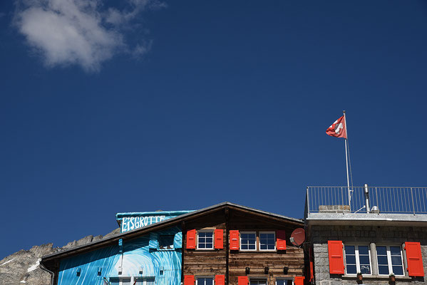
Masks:
[[[0,259],[308,185],[426,186],[425,1],[0,3]]]

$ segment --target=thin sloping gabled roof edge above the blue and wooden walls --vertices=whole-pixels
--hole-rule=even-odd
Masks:
[[[158,222],[155,224],[150,224],[145,227],[140,227],[138,229],[133,229],[129,232],[123,232],[119,234],[114,234],[106,239],[98,239],[95,242],[90,242],[88,244],[83,244],[79,247],[73,247],[71,249],[66,249],[61,252],[56,252],[54,254],[48,254],[41,258],[41,263],[45,264],[48,261],[53,261],[57,259],[63,259],[66,257],[70,257],[72,255],[80,254],[83,252],[89,252],[94,249],[98,249],[101,247],[105,247],[110,244],[118,243],[119,239],[134,239],[135,237],[139,237],[142,234],[148,234],[149,232],[157,231],[160,229],[164,229],[166,227],[172,227],[173,225],[179,224],[180,222],[185,222],[188,219],[193,219],[195,217],[200,217],[204,214],[209,214],[211,212],[216,212],[220,209],[237,209],[242,212],[247,212],[248,214],[254,214],[260,217],[266,217],[269,219],[275,219],[279,222],[289,222],[290,224],[294,224],[297,226],[303,226],[304,222],[302,219],[295,219],[292,217],[285,217],[281,214],[274,214],[270,212],[261,211],[259,209],[254,209],[250,207],[241,206],[239,204],[233,204],[230,202],[222,202],[220,204],[215,204],[210,207],[206,207],[203,209],[196,210],[194,212],[189,212],[187,214],[182,214],[178,217],[174,217],[171,219],[165,219],[163,222]],[[45,264],[46,265],[46,264]]]

